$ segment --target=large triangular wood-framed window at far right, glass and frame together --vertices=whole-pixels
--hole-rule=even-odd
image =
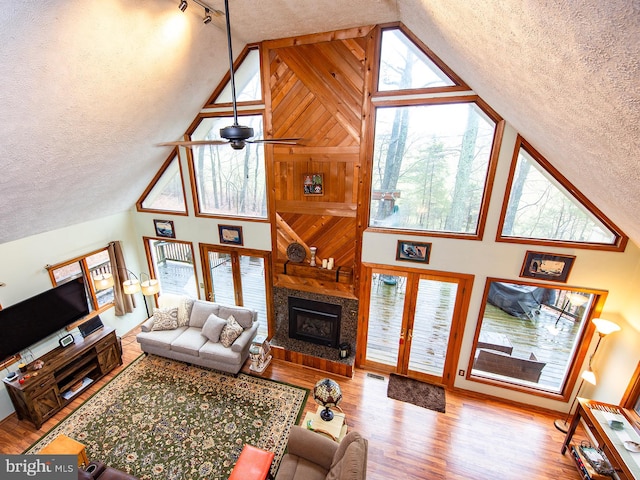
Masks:
[[[623,250],[627,237],[522,138],[497,240]]]

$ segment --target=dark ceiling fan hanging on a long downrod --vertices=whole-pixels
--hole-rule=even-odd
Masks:
[[[185,140],[177,142],[159,143],[159,146],[180,146],[180,147],[196,147],[202,145],[231,145],[234,150],[242,150],[247,143],[279,143],[285,145],[296,145],[299,138],[271,138],[271,139],[253,139],[253,128],[240,125],[238,123],[238,105],[236,101],[236,84],[233,70],[233,51],[231,50],[231,22],[229,21],[229,0],[224,0],[226,26],[227,26],[227,45],[229,51],[229,72],[231,81],[231,98],[233,102],[233,125],[220,129],[220,137],[224,140]]]

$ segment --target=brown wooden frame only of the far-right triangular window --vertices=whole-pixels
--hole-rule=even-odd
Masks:
[[[527,152],[560,185],[562,185],[562,187],[564,187],[573,196],[573,199],[576,202],[581,203],[583,207],[589,210],[591,214],[593,214],[605,227],[607,227],[615,235],[615,242],[612,244],[604,244],[594,242],[503,236],[502,231],[504,229],[504,221],[507,216],[509,198],[511,197],[513,180],[516,174],[516,165],[518,163],[518,157],[520,156],[521,149]],[[511,166],[509,169],[507,186],[504,193],[504,199],[502,201],[500,221],[498,224],[498,229],[496,231],[496,242],[623,252],[627,246],[628,240],[629,238],[624,234],[622,230],[620,230],[620,228],[618,228],[598,207],[591,203],[591,201],[589,201],[587,197],[585,197],[569,180],[567,180],[567,178],[565,178],[556,168],[554,168],[546,158],[544,158],[535,148],[533,148],[533,146],[531,146],[531,144],[529,144],[529,142],[527,142],[521,135],[517,136],[516,144],[513,150],[513,156],[511,158]]]

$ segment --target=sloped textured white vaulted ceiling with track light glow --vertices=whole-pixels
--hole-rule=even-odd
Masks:
[[[177,3],[4,2],[0,243],[135,203],[227,70],[220,25]],[[236,54],[402,21],[640,244],[638,0],[230,3]]]

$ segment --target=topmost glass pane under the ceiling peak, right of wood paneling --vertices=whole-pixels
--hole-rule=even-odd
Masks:
[[[378,91],[458,85],[400,29],[382,31]]]

